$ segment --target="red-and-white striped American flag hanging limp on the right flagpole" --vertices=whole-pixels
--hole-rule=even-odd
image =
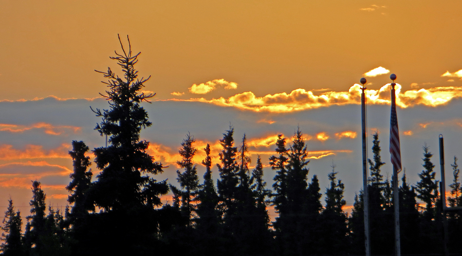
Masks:
[[[390,154],[391,164],[396,171],[401,170],[400,133],[398,131],[398,117],[396,116],[395,83],[391,84],[391,114],[390,114]]]

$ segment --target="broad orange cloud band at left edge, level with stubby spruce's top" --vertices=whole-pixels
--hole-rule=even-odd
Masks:
[[[12,145],[0,145],[0,160],[34,159],[34,158],[69,158],[71,145],[62,144],[57,149],[44,150],[40,145],[26,145],[24,150],[13,149]]]

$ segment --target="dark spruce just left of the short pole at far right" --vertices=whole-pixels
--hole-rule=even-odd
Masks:
[[[440,233],[440,221],[436,221],[439,218],[438,209],[436,209],[437,200],[438,200],[438,181],[435,180],[435,172],[433,167],[435,167],[430,160],[433,154],[429,151],[428,146],[425,144],[422,149],[424,149],[424,158],[422,160],[424,163],[422,166],[425,168],[421,173],[419,173],[420,181],[417,182],[417,198],[422,200],[425,203],[425,208],[423,208],[422,213],[420,214],[420,223],[419,223],[419,246],[426,247],[428,244],[433,244],[432,248],[427,248],[426,253],[440,253],[441,252],[441,233]]]

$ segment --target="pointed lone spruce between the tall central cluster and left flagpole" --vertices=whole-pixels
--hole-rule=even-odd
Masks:
[[[347,241],[349,230],[346,226],[347,217],[342,207],[346,201],[343,199],[345,185],[335,177],[335,165],[332,163],[332,172],[328,174],[330,186],[326,188],[326,206],[321,214],[321,237],[319,247],[325,255],[345,255],[349,248]]]

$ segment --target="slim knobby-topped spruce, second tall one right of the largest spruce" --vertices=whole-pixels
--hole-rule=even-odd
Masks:
[[[195,250],[197,255],[223,255],[221,244],[221,217],[217,209],[219,198],[212,179],[212,158],[210,157],[210,145],[204,149],[206,158],[202,164],[206,167],[204,183],[197,193],[196,207],[196,238],[198,245]]]

